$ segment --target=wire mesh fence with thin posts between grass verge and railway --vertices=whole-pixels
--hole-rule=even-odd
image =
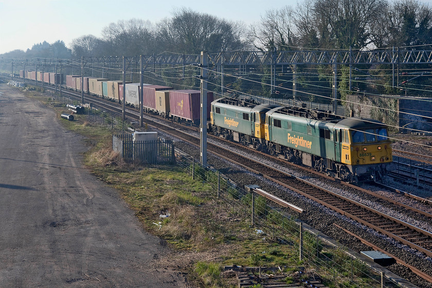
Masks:
[[[272,207],[263,196],[256,196],[238,187],[218,171],[203,168],[199,162],[185,155],[176,160],[177,165],[213,188],[214,196],[233,206],[244,219],[254,224],[257,233],[287,245],[292,257],[304,266],[310,266],[331,287],[401,287],[365,262],[335,247],[320,236],[304,228],[284,210]]]

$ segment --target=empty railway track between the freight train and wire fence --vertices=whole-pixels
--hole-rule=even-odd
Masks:
[[[92,98],[92,102],[95,101],[100,101],[101,106],[106,104],[102,102],[101,99]],[[110,110],[115,111],[116,113],[121,112],[121,109],[119,109],[118,106],[115,107],[115,105],[112,105],[112,109],[110,108]],[[128,111],[127,114],[129,117],[133,118],[137,116],[137,112],[134,112],[132,110]],[[146,119],[146,122],[149,125],[154,125],[156,128],[163,130],[164,132],[180,138],[186,142],[189,142],[192,145],[198,147],[200,145],[199,137],[185,134],[182,131],[184,129],[176,129],[173,127],[173,125],[166,125],[148,119]],[[412,248],[415,248],[424,253],[425,255],[428,255],[429,257],[432,256],[432,233],[430,233],[429,231],[425,231],[423,229],[405,223],[380,211],[376,211],[370,207],[367,207],[366,205],[350,200],[327,189],[318,187],[310,182],[304,181],[301,178],[285,173],[273,167],[264,165],[259,161],[251,159],[247,156],[228,151],[227,149],[219,147],[217,145],[208,143],[208,150],[220,156],[221,158],[227,159],[231,163],[236,163],[237,165],[242,166],[251,172],[262,175],[263,177],[270,179],[271,181],[276,182],[283,187],[302,194],[305,197],[308,197],[309,199],[314,200],[323,206],[326,206],[334,211],[346,215],[347,217],[359,223],[362,223],[370,228],[373,228],[376,231],[383,233],[384,235],[387,235]],[[322,174],[320,175],[322,176]],[[427,215],[427,217],[431,216]]]

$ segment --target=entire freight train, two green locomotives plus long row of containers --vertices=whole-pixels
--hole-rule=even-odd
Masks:
[[[62,83],[59,74],[21,71],[20,76],[51,85]],[[42,80],[43,79],[43,80]],[[51,79],[52,82],[51,82]],[[66,76],[66,87],[117,103],[138,108],[139,83],[108,81],[103,78]],[[143,110],[193,124],[200,122],[201,93],[173,90],[172,87],[143,84]],[[309,166],[347,182],[358,183],[381,178],[392,169],[392,151],[385,124],[364,118],[343,119],[327,111],[251,100],[220,98],[207,94],[208,131],[242,143],[292,163]]]

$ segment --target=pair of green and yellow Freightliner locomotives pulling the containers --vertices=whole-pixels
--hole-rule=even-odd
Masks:
[[[351,183],[392,168],[387,127],[373,119],[220,98],[211,103],[209,125],[214,135]]]

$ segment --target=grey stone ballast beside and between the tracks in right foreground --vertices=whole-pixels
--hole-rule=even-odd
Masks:
[[[190,133],[198,136],[198,133],[194,131],[191,131]],[[170,138],[170,136],[168,135],[165,135],[165,137]],[[196,147],[192,147],[187,143],[178,141],[176,139],[173,140],[176,141],[175,142],[176,148],[184,151],[185,153],[193,155],[196,158],[199,158],[199,149],[197,149]],[[218,144],[225,147],[228,146],[227,143],[222,141],[217,141],[213,139],[208,139],[208,141],[217,142]],[[240,152],[241,154],[259,159],[260,161],[262,161],[267,165],[272,165],[282,171],[291,173],[295,176],[299,176],[316,185],[319,185],[333,192],[354,199],[355,201],[368,205],[374,209],[393,215],[393,217],[402,219],[403,221],[406,221],[412,225],[416,225],[422,229],[432,231],[432,225],[431,225],[432,221],[423,215],[419,215],[415,212],[409,211],[399,206],[397,208],[394,208],[395,206],[393,204],[388,203],[381,199],[377,199],[372,195],[368,195],[368,194],[365,195],[359,193],[358,191],[355,191],[352,188],[347,188],[344,185],[337,184],[327,179],[323,179],[322,177],[318,177],[315,174],[308,173],[297,168],[292,168],[287,165],[286,166],[281,165],[279,163],[276,163],[273,159],[268,159],[268,157],[261,156],[259,154],[251,154],[249,151],[245,151],[235,146],[229,146],[229,147],[231,150],[235,150],[236,152]],[[273,182],[270,182],[259,175],[250,173],[248,171],[244,171],[242,167],[237,167],[236,165],[230,164],[226,160],[221,159],[217,156],[209,154],[208,164],[220,170],[223,174],[228,176],[233,182],[237,183],[241,187],[249,184],[257,184],[261,186],[262,189],[264,189],[265,191],[272,193],[276,196],[279,196],[282,199],[305,209],[305,211],[301,214],[295,212],[293,213],[292,211],[290,211],[290,213],[294,214],[295,217],[297,217],[298,219],[301,219],[302,221],[310,224],[311,226],[322,231],[326,235],[339,241],[341,244],[344,244],[357,252],[363,250],[370,250],[371,248],[358,241],[355,237],[349,236],[346,233],[341,232],[341,230],[336,226],[334,226],[333,224],[337,224],[341,227],[344,227],[354,232],[356,235],[359,235],[362,238],[368,240],[369,242],[383,249],[386,249],[387,251],[389,251],[389,253],[395,255],[396,257],[406,261],[407,263],[415,267],[418,267],[425,273],[432,275],[432,259],[410,248],[409,246],[403,245],[387,236],[382,235],[381,233],[377,233],[373,229],[370,229],[339,213],[336,213],[326,207],[323,207],[312,200],[306,199],[305,197],[298,195],[297,193],[290,191],[289,189],[283,188]],[[399,187],[400,189],[405,188],[401,186],[400,183],[392,183],[390,179],[386,180],[386,184],[393,187]],[[383,189],[379,189],[376,187],[372,187],[370,185],[364,185],[363,188],[371,189],[374,192],[385,195],[391,199],[395,199],[401,202],[403,201],[403,203],[406,203],[408,205],[415,206],[419,209],[423,209],[428,212],[432,212],[432,207],[429,207],[424,204],[420,204],[417,201],[407,199],[406,197],[401,197],[395,193]],[[421,191],[420,189],[417,189],[420,191],[417,190],[413,191],[413,190],[415,189],[411,187],[411,189],[409,189],[407,192],[410,193],[423,192],[423,195],[430,193],[428,191]],[[406,267],[400,264],[393,264],[387,268],[390,269],[393,273],[400,275],[401,277],[406,278],[409,281],[415,283],[419,287],[431,286],[431,283],[413,274],[409,269],[407,269]]]

